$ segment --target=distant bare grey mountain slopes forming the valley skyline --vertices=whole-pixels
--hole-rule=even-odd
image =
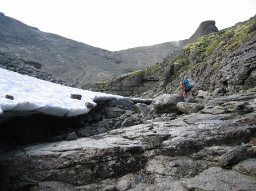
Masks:
[[[107,51],[42,32],[3,13],[0,25],[0,51],[41,63],[43,71],[81,87],[162,62],[187,41]]]

